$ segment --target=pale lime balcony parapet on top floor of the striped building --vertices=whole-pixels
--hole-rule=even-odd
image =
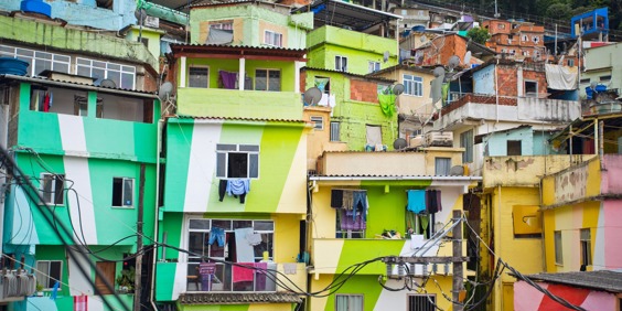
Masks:
[[[178,103],[183,116],[302,119],[301,94],[294,92],[183,87]]]

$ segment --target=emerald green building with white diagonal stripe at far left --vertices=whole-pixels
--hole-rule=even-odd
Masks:
[[[119,300],[97,293],[125,286],[131,292],[133,280],[119,277],[131,266],[124,259],[137,253],[140,213],[142,233],[153,236],[158,97],[69,78],[0,75],[2,144],[42,197],[20,179],[6,183],[3,262],[32,271],[47,296],[58,282],[56,300],[28,297],[12,310],[73,310],[74,298],[83,296],[89,310],[104,310],[105,300],[131,307],[131,293]],[[103,274],[96,276],[95,267]]]

